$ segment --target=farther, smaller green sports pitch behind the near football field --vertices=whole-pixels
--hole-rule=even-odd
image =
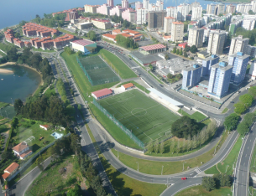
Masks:
[[[102,85],[120,81],[118,75],[99,57],[91,56],[77,59],[91,85]]]

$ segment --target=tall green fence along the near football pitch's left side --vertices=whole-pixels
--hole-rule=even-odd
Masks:
[[[120,123],[117,119],[115,119],[106,109],[104,109],[95,99],[93,99],[93,104],[97,106],[97,108],[104,113],[110,120],[112,120],[117,126],[121,128],[121,130],[128,135],[135,143],[138,144],[139,147],[144,148],[144,142],[141,142],[138,137],[134,136],[132,132],[128,130],[122,123]]]

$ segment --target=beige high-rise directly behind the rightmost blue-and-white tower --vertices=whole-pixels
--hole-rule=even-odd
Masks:
[[[248,44],[249,39],[243,39],[243,35],[238,35],[238,37],[232,38],[229,49],[229,55],[237,54],[238,52],[245,53],[246,49],[248,48]]]

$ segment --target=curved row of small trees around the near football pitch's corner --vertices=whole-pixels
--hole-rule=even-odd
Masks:
[[[180,140],[172,138],[170,141],[161,142],[156,140],[155,142],[149,142],[147,146],[148,152],[152,153],[165,153],[167,151],[166,147],[170,145],[170,151],[172,153],[188,152],[196,147],[201,147],[206,141],[212,138],[216,132],[217,124],[216,121],[212,120],[206,128],[198,132],[196,135],[191,137],[188,135],[186,139]]]

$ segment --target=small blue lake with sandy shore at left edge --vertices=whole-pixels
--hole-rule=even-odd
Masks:
[[[0,69],[13,71],[12,74],[0,73],[0,101],[3,102],[12,104],[18,98],[25,101],[41,82],[39,73],[24,66],[6,65]]]

